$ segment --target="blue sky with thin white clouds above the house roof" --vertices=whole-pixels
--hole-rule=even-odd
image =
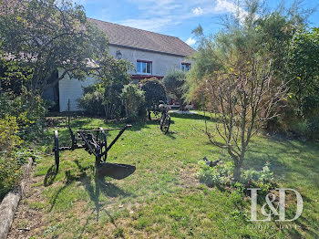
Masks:
[[[234,14],[235,0],[74,0],[83,5],[88,17],[102,21],[132,26],[169,36],[196,47],[196,37],[191,31],[201,25],[204,34],[221,30],[221,16]],[[265,0],[270,9],[278,1]],[[291,5],[292,0],[285,0]],[[318,0],[305,0],[304,7],[319,5]],[[241,15],[245,11],[240,9]],[[309,18],[310,26],[319,26],[319,12]]]

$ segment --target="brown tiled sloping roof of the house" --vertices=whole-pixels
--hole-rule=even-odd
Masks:
[[[182,57],[190,56],[195,52],[193,48],[175,36],[166,36],[92,18],[88,20],[97,24],[106,33],[110,45],[133,47]]]

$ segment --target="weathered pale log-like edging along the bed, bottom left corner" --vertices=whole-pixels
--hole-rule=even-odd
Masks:
[[[4,200],[0,204],[0,239],[6,239],[10,231],[11,224],[15,218],[15,211],[20,202],[22,194],[26,187],[26,182],[29,180],[29,175],[33,160],[29,158],[24,166],[24,178],[14,190],[5,195]]]

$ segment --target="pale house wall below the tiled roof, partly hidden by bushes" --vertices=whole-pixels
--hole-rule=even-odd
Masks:
[[[149,51],[131,49],[127,47],[109,46],[109,53],[116,57],[117,51],[120,51],[122,58],[129,60],[136,67],[137,60],[146,60],[152,62],[152,76],[164,77],[171,69],[180,69],[182,62],[191,63],[189,59],[184,57],[171,56],[167,54],[154,53]],[[129,74],[137,74],[130,70]],[[95,78],[89,78],[85,81],[76,78],[68,78],[67,76],[59,81],[59,104],[60,112],[67,111],[67,102],[70,99],[70,110],[81,110],[77,105],[77,99],[83,95],[83,88],[93,84]]]

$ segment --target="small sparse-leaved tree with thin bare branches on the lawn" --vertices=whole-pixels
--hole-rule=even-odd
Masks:
[[[205,134],[215,146],[226,149],[234,161],[233,177],[241,178],[242,162],[252,136],[265,121],[276,116],[273,108],[286,96],[285,85],[272,87],[272,68],[267,60],[253,59],[246,68],[216,71],[206,78],[211,109],[221,118]]]

